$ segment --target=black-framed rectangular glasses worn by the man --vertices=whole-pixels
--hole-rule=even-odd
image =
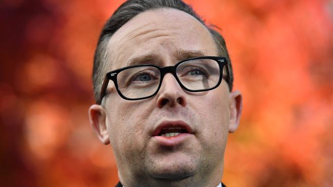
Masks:
[[[101,104],[106,95],[109,80],[114,82],[119,96],[123,99],[140,100],[155,96],[167,73],[171,73],[186,91],[212,90],[220,85],[222,78],[230,87],[230,74],[225,57],[190,58],[165,67],[152,64],[133,65],[106,74],[97,104]]]

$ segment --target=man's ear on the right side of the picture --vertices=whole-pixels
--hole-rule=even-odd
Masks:
[[[240,116],[242,113],[243,101],[240,91],[232,91],[229,95],[229,132],[235,132],[238,127]]]

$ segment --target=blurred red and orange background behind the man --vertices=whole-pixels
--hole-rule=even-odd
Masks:
[[[227,186],[333,186],[333,2],[185,1],[221,28],[239,129]],[[91,72],[99,32],[123,1],[0,3],[0,185],[114,186],[111,146],[93,133]]]

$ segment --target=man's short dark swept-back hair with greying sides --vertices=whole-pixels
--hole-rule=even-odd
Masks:
[[[93,89],[95,100],[97,101],[100,95],[101,84],[103,82],[103,78],[107,73],[107,63],[106,61],[110,59],[110,55],[107,53],[107,43],[110,40],[111,36],[127,21],[132,19],[134,16],[148,10],[160,9],[160,8],[173,8],[183,12],[186,12],[197,20],[201,22],[203,26],[205,26],[209,32],[211,33],[217,48],[217,52],[219,56],[228,58],[228,67],[230,73],[230,91],[233,89],[233,71],[231,60],[229,58],[225,40],[220,33],[213,29],[215,26],[207,26],[195,12],[194,10],[181,0],[129,0],[123,3],[108,19],[105,26],[103,27],[101,34],[99,36],[99,40],[97,43],[95,56],[94,56],[94,65],[93,65]],[[217,27],[215,27],[217,28]]]

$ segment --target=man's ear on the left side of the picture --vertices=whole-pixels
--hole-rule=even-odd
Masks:
[[[90,124],[96,132],[100,141],[107,145],[110,144],[108,128],[106,124],[106,111],[101,105],[91,105],[89,108],[89,120]]]

